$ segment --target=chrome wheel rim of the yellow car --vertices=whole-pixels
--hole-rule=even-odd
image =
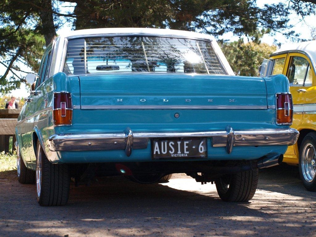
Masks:
[[[312,182],[316,173],[315,148],[311,143],[307,143],[303,149],[301,167],[304,179]]]

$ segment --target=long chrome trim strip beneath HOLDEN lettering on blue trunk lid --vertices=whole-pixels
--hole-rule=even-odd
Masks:
[[[83,105],[81,109],[238,109],[238,110],[248,110],[248,109],[267,109],[267,106],[229,106],[229,105]]]

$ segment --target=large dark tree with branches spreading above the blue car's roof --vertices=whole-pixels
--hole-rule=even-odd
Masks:
[[[76,7],[73,12],[63,12],[63,3]],[[155,27],[214,36],[230,31],[249,36],[265,28],[295,38],[289,14],[304,17],[315,14],[315,7],[313,0],[287,0],[263,7],[255,0],[0,0],[0,62],[7,68],[0,77],[0,92],[23,81],[25,67],[21,65],[38,70],[43,46],[67,21],[74,29]]]

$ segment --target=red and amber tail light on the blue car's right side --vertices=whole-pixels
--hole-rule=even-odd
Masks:
[[[291,94],[276,94],[276,124],[291,125],[293,118],[293,103]]]

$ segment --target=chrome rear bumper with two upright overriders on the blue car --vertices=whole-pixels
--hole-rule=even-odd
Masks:
[[[266,146],[293,145],[296,143],[299,131],[296,129],[261,129],[234,131],[227,126],[226,131],[203,132],[135,132],[126,128],[122,133],[101,134],[62,134],[52,135],[47,140],[51,151],[88,151],[88,150],[118,150],[125,149],[127,156],[132,149],[147,148],[151,138],[194,138],[206,137],[212,139],[213,147],[226,147],[231,153],[234,146]]]

